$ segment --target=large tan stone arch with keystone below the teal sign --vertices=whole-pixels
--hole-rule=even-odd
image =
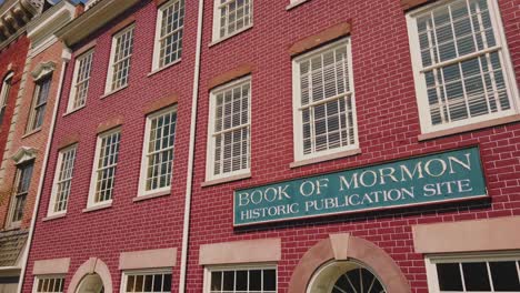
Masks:
[[[388,293],[411,293],[410,284],[390,255],[376,244],[350,234],[330,235],[307,251],[292,273],[288,292],[307,292],[318,269],[334,260],[363,263],[384,284]]]

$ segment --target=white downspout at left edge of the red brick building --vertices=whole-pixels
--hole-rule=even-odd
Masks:
[[[60,97],[61,97],[61,89],[63,88],[63,80],[64,80],[64,74],[66,74],[66,69],[67,69],[67,63],[70,61],[71,58],[71,52],[70,49],[66,48],[63,49],[63,52],[61,53],[61,59],[63,60],[61,62],[61,73],[60,73],[60,82],[58,84],[58,93],[56,94],[56,100],[54,100],[54,109],[52,110],[52,120],[51,124],[49,128],[49,137],[47,139],[47,146],[46,146],[46,152],[43,156],[43,163],[41,166],[41,173],[40,173],[40,181],[38,183],[38,193],[37,198],[34,201],[34,209],[32,212],[32,219],[31,219],[31,226],[29,229],[29,236],[27,239],[27,246],[23,252],[23,259],[22,259],[22,269],[20,273],[20,282],[18,283],[18,293],[21,293],[22,286],[23,286],[23,280],[26,276],[26,269],[27,269],[27,262],[29,259],[29,252],[31,250],[31,244],[32,244],[32,235],[34,234],[34,226],[36,226],[36,221],[38,216],[38,210],[40,206],[40,199],[41,199],[41,193],[43,190],[43,180],[46,179],[46,173],[47,173],[47,166],[49,162],[49,154],[51,150],[51,142],[52,142],[52,137],[54,135],[54,127],[56,127],[56,120],[58,118],[58,109],[60,107]]]

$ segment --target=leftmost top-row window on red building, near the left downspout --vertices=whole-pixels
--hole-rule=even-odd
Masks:
[[[93,50],[78,57],[76,60],[73,84],[70,91],[69,108],[71,112],[84,105],[89,93],[90,73],[92,71]]]

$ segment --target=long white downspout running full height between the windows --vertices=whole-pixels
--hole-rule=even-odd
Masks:
[[[197,130],[197,104],[199,98],[200,79],[200,54],[202,48],[202,17],[204,11],[204,0],[199,0],[199,16],[197,24],[197,51],[193,73],[193,97],[191,101],[191,125],[190,125],[190,149],[188,155],[188,173],[186,178],[186,201],[184,201],[184,225],[182,228],[182,252],[181,252],[181,272],[179,281],[179,293],[184,293],[186,274],[188,271],[188,240],[190,235],[190,214],[191,214],[191,193],[193,184],[193,158]]]

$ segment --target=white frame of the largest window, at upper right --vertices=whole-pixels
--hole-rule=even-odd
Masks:
[[[463,119],[454,122],[448,122],[440,125],[432,125],[431,123],[431,115],[430,115],[430,105],[428,103],[428,95],[427,95],[427,82],[426,82],[426,74],[422,73],[422,58],[420,53],[420,43],[419,43],[419,32],[417,26],[417,19],[438,7],[442,7],[449,4],[457,0],[441,0],[429,6],[421,7],[419,9],[414,9],[407,13],[407,23],[408,23],[408,36],[409,36],[409,44],[410,44],[410,53],[411,53],[411,61],[412,61],[412,69],[413,69],[413,78],[416,84],[416,98],[419,108],[419,120],[421,125],[421,133],[430,133],[436,131],[448,130],[457,127],[464,127],[470,124],[476,124],[479,122],[512,115],[519,113],[519,94],[517,88],[517,81],[514,78],[514,70],[512,68],[511,57],[508,49],[508,43],[503,30],[503,24],[501,21],[500,9],[496,0],[487,0],[489,7],[489,14],[491,18],[491,24],[493,28],[493,33],[496,38],[497,46],[493,48],[484,49],[483,51],[496,51],[499,53],[500,61],[502,63],[502,72],[503,79],[506,82],[506,88],[508,95],[510,97],[511,101],[511,109],[506,111],[500,111],[491,114],[479,115],[474,118]],[[473,55],[469,54],[469,57]],[[482,55],[482,54],[477,54]],[[457,58],[453,60],[463,60],[468,57]],[[453,60],[448,60],[444,62],[438,63],[436,67],[442,68],[443,63],[453,63]],[[456,62],[457,63],[457,62]]]

